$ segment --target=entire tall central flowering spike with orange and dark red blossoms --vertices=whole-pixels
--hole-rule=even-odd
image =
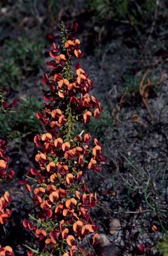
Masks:
[[[80,241],[89,235],[91,243],[98,237],[98,228],[90,217],[90,209],[97,204],[97,195],[88,190],[83,172],[100,172],[104,164],[102,148],[97,139],[88,132],[75,135],[75,124],[88,124],[92,117],[98,118],[102,107],[90,96],[92,81],[80,63],[73,66],[73,59],[82,57],[80,40],[72,30],[61,23],[61,45],[53,42],[46,62],[51,70],[42,81],[44,112],[37,117],[46,132],[34,137],[38,148],[35,160],[37,170],[29,171],[28,181],[21,184],[33,194],[34,215],[24,219],[23,225],[34,232],[38,250],[28,255],[81,255]]]

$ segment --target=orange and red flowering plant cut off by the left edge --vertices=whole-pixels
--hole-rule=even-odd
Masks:
[[[16,104],[16,100],[8,105],[6,100],[7,91],[6,88],[0,87],[0,113],[4,114],[11,112],[11,108]],[[14,171],[10,170],[8,172],[9,157],[6,154],[6,140],[0,137],[0,181],[1,184],[4,180],[11,180],[14,176]],[[2,187],[0,187],[0,192],[3,195],[0,197],[0,225],[4,225],[9,217],[11,216],[11,210],[9,209],[9,202],[12,198],[8,191],[3,192]],[[1,237],[0,237],[1,238]],[[13,256],[13,249],[9,246],[2,247],[0,244],[0,256]]]

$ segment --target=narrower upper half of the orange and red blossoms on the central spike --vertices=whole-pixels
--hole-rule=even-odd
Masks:
[[[46,124],[47,131],[56,132],[68,121],[67,106],[71,108],[71,115],[75,121],[87,124],[92,117],[100,117],[102,107],[95,96],[89,91],[93,82],[88,73],[78,62],[71,66],[73,59],[81,57],[80,40],[72,37],[71,33],[62,40],[63,47],[52,44],[50,56],[53,61],[46,62],[51,70],[45,73],[42,81],[46,84],[44,90],[45,113],[37,113],[38,119]]]

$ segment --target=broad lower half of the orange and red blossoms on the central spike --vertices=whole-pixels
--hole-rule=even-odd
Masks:
[[[24,220],[24,227],[34,231],[45,252],[63,247],[65,253],[70,253],[66,255],[72,252],[76,255],[80,250],[77,241],[92,233],[92,241],[97,238],[97,227],[90,218],[97,196],[87,189],[82,175],[87,168],[100,171],[103,164],[100,144],[97,139],[92,143],[87,132],[70,142],[49,132],[36,136],[34,141],[40,145],[35,156],[38,170],[31,168],[28,177],[36,180],[36,187],[23,183],[33,192],[36,211],[39,209],[36,218],[50,226],[39,227],[34,220]],[[65,245],[69,248],[67,252]]]

